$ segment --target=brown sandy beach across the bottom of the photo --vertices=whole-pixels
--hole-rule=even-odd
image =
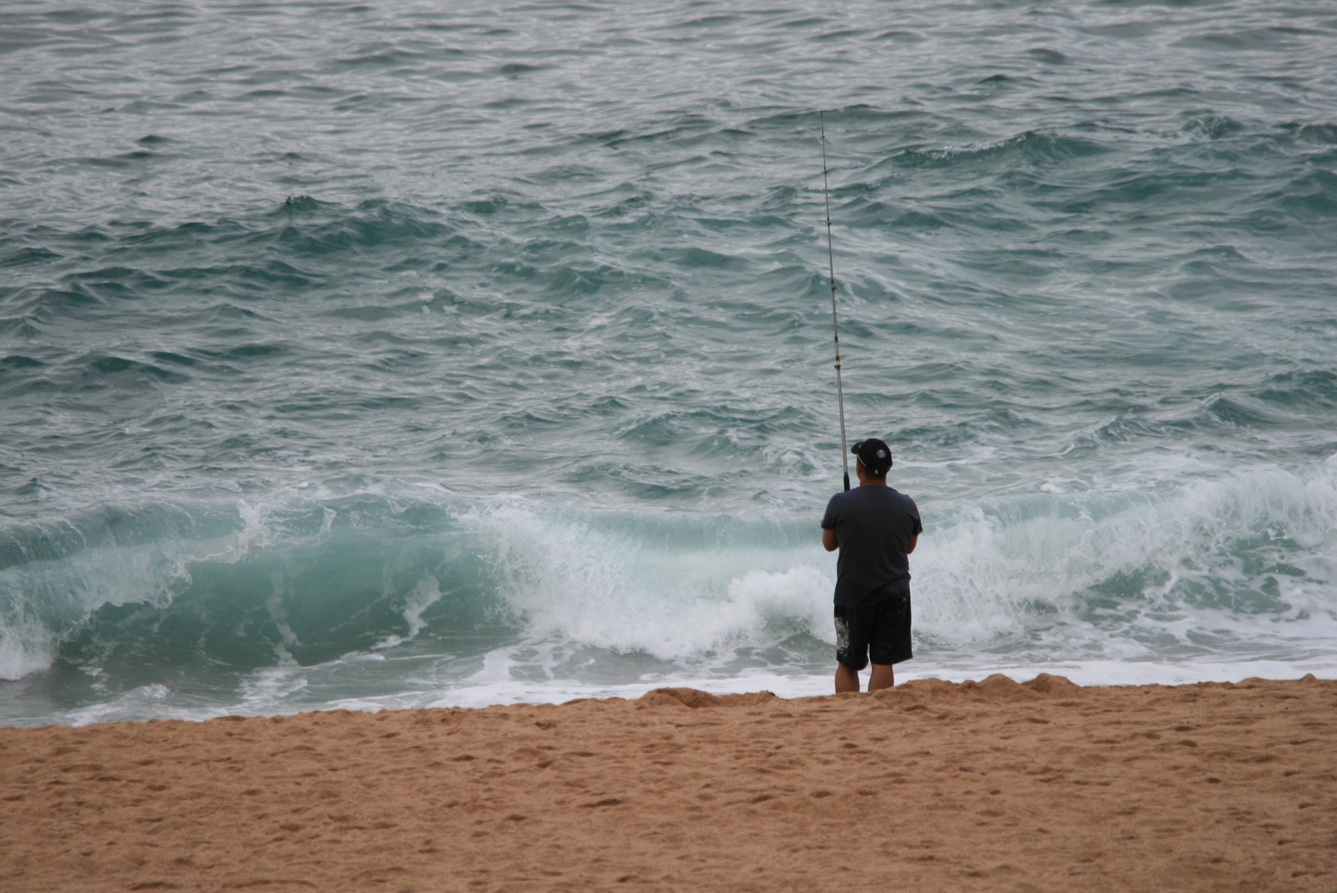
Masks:
[[[1337,682],[0,729],[0,890],[1337,890]]]

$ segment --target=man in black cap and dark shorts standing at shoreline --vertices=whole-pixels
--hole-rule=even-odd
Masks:
[[[870,437],[850,449],[858,487],[836,493],[822,517],[822,545],[840,548],[836,563],[836,692],[858,691],[858,671],[873,674],[868,690],[896,683],[892,664],[910,656],[910,571],[919,545],[919,507],[886,485],[890,448]]]

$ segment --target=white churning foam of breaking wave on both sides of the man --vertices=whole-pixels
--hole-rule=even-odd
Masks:
[[[1056,658],[1174,656],[1151,644],[1158,636],[1182,644],[1185,660],[1210,648],[1205,636],[1229,640],[1222,656],[1231,659],[1333,651],[1334,468],[940,509],[912,557],[916,632],[948,651],[1011,636],[1032,656]],[[536,639],[679,663],[794,632],[832,640],[834,559],[816,535],[810,548],[685,547],[519,504],[468,521],[487,533],[500,592]],[[1265,571],[1281,559],[1298,569]],[[1092,614],[1091,594],[1112,583],[1123,587],[1118,610]],[[1231,592],[1253,603],[1210,600]]]

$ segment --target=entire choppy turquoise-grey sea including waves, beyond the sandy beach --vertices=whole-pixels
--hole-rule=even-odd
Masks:
[[[500,7],[500,8],[499,8]],[[0,723],[1337,672],[1325,4],[0,11]]]

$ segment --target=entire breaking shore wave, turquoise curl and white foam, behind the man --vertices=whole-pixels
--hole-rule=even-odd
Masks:
[[[1051,488],[1052,489],[1052,488]],[[316,492],[312,492],[316,491]],[[921,656],[1304,656],[1337,631],[1337,457],[1158,493],[925,511]],[[9,529],[0,675],[313,666],[529,643],[698,670],[821,663],[813,519],[554,509],[332,481]]]

